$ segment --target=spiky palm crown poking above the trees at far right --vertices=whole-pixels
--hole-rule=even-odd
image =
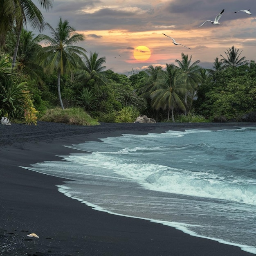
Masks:
[[[239,49],[235,49],[233,45],[231,48],[227,49],[227,52],[225,52],[227,58],[220,54],[220,56],[222,56],[221,61],[224,63],[224,67],[238,67],[248,64],[248,60],[245,60],[245,56],[239,59],[240,54],[243,51],[241,51],[239,54],[238,52]]]

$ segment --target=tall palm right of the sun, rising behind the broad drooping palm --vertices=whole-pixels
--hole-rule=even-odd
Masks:
[[[198,88],[198,83],[201,82],[200,76],[200,60],[191,63],[192,55],[189,58],[189,54],[181,54],[182,60],[175,60],[178,63],[178,68],[185,74],[186,76],[186,83],[191,85],[191,90],[185,95],[185,103],[190,110],[192,107],[193,98],[195,97],[196,89]],[[189,96],[189,104],[188,104],[188,96]],[[186,115],[186,110],[185,110]]]

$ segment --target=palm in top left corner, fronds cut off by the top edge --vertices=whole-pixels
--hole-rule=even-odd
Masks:
[[[38,0],[40,6],[45,9],[52,7],[52,0]],[[12,67],[16,63],[20,35],[23,25],[27,25],[27,20],[33,29],[42,31],[45,25],[44,18],[38,7],[32,0],[0,0],[0,42],[4,43],[9,31],[16,25],[17,41],[13,53]]]

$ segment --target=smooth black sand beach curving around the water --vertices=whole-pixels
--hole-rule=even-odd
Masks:
[[[60,160],[56,155],[77,152],[63,145],[122,133],[238,127],[256,127],[256,123],[0,125],[0,255],[253,255],[148,220],[93,210],[58,192],[56,185],[63,184],[64,179],[19,167]],[[30,233],[39,238],[27,237]]]

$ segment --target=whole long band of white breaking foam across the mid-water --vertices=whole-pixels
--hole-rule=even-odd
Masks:
[[[158,164],[131,163],[99,152],[74,155],[66,160],[90,166],[90,171],[92,167],[98,169],[100,166],[98,175],[111,171],[150,190],[256,204],[256,180],[252,179],[215,174],[213,171],[193,172]]]

